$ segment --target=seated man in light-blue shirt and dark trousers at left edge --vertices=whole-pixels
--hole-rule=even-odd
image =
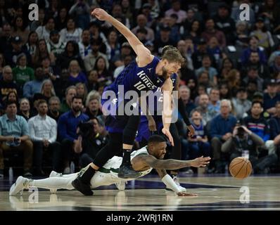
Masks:
[[[23,152],[23,176],[32,176],[33,145],[26,120],[17,113],[15,102],[6,103],[6,115],[0,117],[0,176],[4,176],[4,152]]]

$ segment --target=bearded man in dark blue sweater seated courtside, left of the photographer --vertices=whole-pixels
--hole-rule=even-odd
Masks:
[[[72,98],[71,110],[61,115],[58,120],[58,135],[61,139],[63,151],[64,174],[70,173],[70,160],[73,155],[73,146],[77,143],[77,126],[79,122],[86,122],[89,117],[82,113],[82,98]]]

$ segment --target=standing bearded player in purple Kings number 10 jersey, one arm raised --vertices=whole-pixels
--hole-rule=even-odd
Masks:
[[[122,165],[120,165],[118,176],[120,178],[135,178],[139,176],[139,172],[136,172],[130,162],[130,153],[134,144],[136,131],[139,125],[140,114],[138,115],[116,115],[117,108],[124,107],[127,101],[123,98],[119,98],[118,89],[121,85],[124,92],[136,91],[139,98],[141,97],[141,91],[149,91],[155,89],[155,87],[161,87],[161,90],[167,93],[167,98],[163,94],[163,104],[168,107],[163,110],[163,129],[162,132],[170,140],[173,145],[172,135],[170,134],[170,121],[172,117],[172,81],[170,79],[173,73],[177,73],[184,63],[184,58],[178,49],[170,49],[165,51],[163,57],[157,58],[151,55],[151,51],[146,49],[144,44],[137,39],[137,37],[120,21],[113,18],[101,8],[96,8],[91,13],[95,15],[98,20],[106,20],[111,23],[122,35],[129,41],[130,46],[136,53],[136,62],[133,62],[125,68],[121,74],[115,79],[113,84],[108,86],[103,92],[102,103],[108,103],[108,99],[104,99],[107,91],[113,91],[116,98],[112,100],[109,110],[109,115],[106,117],[106,128],[110,134],[110,141],[108,145],[102,148],[94,162],[90,167],[82,174],[72,181],[77,191],[80,191],[84,195],[92,195],[90,180],[94,176],[94,173],[98,171],[110,158],[114,155],[118,155],[123,150]],[[129,101],[131,105],[131,102]],[[103,105],[104,106],[104,105]],[[114,113],[115,112],[115,113]],[[112,114],[113,113],[113,114]]]

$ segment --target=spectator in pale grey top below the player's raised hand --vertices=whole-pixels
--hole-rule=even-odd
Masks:
[[[91,39],[91,53],[89,53],[86,57],[84,57],[84,67],[86,71],[89,72],[94,69],[94,65],[96,63],[96,59],[102,56],[106,61],[106,68],[109,68],[108,58],[104,53],[99,51],[101,46],[101,41],[99,39],[94,40]]]

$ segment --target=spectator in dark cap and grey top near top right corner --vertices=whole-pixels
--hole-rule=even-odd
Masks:
[[[262,46],[264,49],[269,49],[274,46],[272,34],[265,27],[265,20],[262,17],[257,18],[253,32],[250,35],[255,35],[259,38],[260,43],[258,46]]]

